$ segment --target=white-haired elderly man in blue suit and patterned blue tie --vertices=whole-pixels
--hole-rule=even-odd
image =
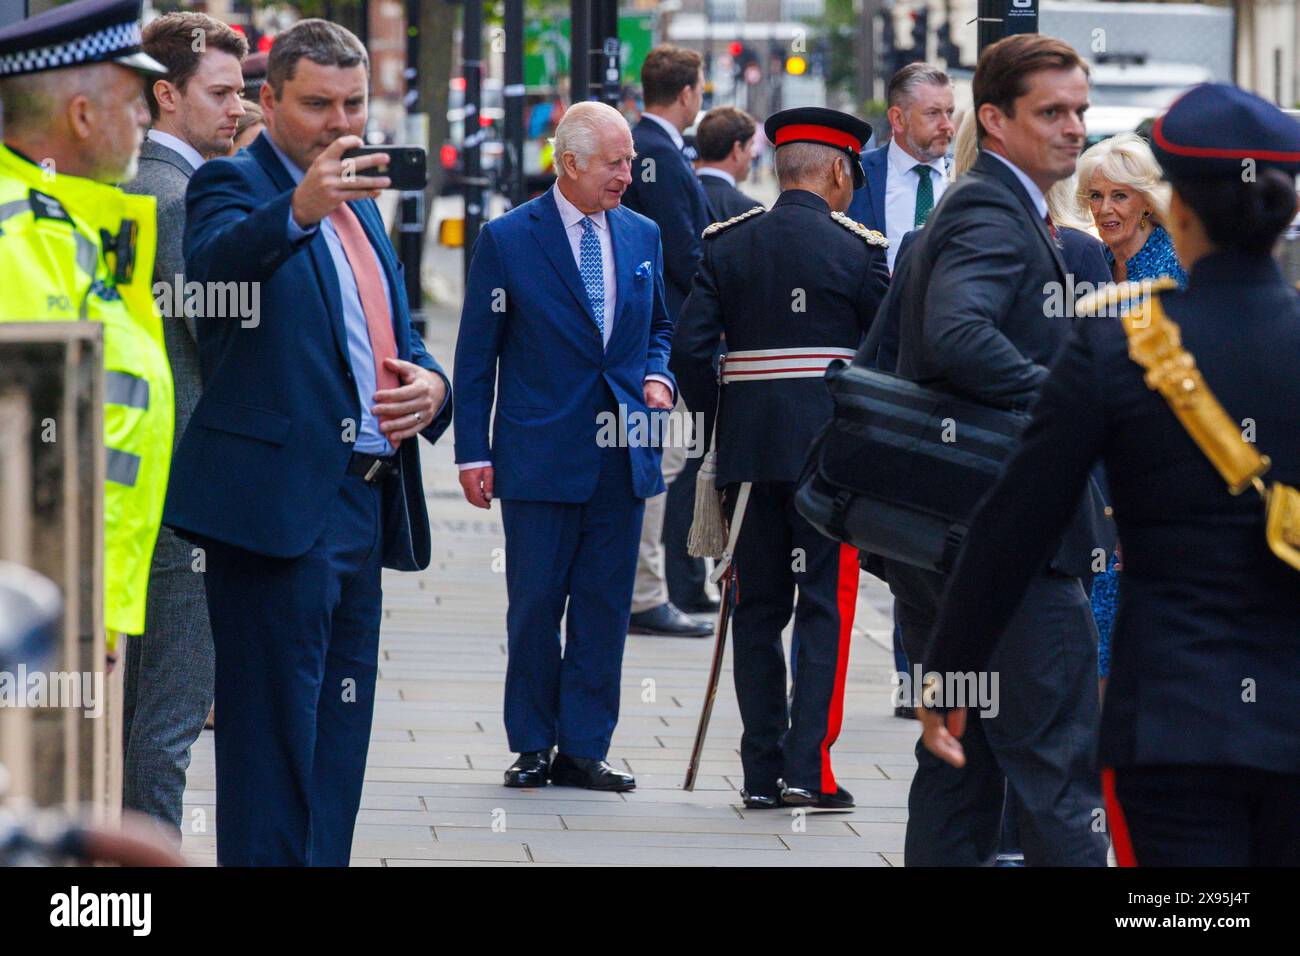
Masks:
[[[469,264],[456,462],[506,529],[507,787],[636,786],[604,758],[645,499],[664,486],[651,410],[676,384],[659,228],[620,206],[634,155],[618,111],[575,104],[555,185],[489,222]]]

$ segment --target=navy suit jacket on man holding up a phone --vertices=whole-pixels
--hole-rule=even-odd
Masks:
[[[256,282],[260,315],[250,328],[198,319],[203,395],[172,462],[164,511],[178,532],[277,558],[304,554],[320,536],[361,421],[338,274],[320,229],[290,241],[292,189],[265,133],[190,179],[186,278]],[[378,208],[351,206],[389,281],[398,358],[443,375],[411,328]],[[436,441],[450,421],[448,386],[424,437]],[[385,485],[384,564],[415,571],[428,567],[430,542],[413,441],[402,442],[398,464],[400,480]]]

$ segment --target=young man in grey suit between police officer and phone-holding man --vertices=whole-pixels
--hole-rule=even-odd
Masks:
[[[204,42],[196,43],[200,31]],[[140,147],[139,173],[124,189],[157,198],[153,293],[176,381],[179,444],[202,390],[194,319],[183,311],[185,191],[198,166],[233,150],[248,43],[207,14],[169,13],[144,29],[142,47],[169,73],[146,88],[153,127]],[[144,633],[126,649],[122,805],[155,817],[177,838],[190,747],[212,706],[213,645],[202,570],[202,555],[164,527],[150,571]]]

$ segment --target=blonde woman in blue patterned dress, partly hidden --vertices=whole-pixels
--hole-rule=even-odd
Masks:
[[[1187,285],[1174,242],[1160,224],[1167,208],[1167,186],[1150,147],[1135,133],[1097,143],[1079,157],[1079,199],[1087,203],[1097,234],[1106,246],[1106,263],[1117,282],[1161,277]],[[1092,584],[1092,614],[1097,622],[1097,670],[1110,672],[1110,627],[1119,594],[1119,550],[1110,567]],[[1102,684],[1104,685],[1104,684]]]

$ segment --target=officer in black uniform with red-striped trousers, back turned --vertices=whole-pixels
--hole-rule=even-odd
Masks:
[[[800,108],[774,114],[764,131],[776,146],[781,195],[770,212],[758,207],[705,230],[672,369],[692,408],[712,407],[722,380],[718,486],[729,510],[751,483],[736,518],[732,589],[741,796],[750,808],[849,808],[831,745],[844,711],[858,553],[796,512],[794,483],[832,414],[826,367],[852,360],[884,298],[888,242],[844,215],[862,182],[867,124]],[[798,650],[788,698],[781,631],[792,610]]]

